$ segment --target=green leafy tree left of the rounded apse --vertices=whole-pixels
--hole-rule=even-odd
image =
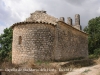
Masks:
[[[4,29],[4,33],[0,35],[0,60],[10,59],[12,49],[12,29]]]

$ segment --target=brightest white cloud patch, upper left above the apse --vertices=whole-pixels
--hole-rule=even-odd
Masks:
[[[35,0],[3,0],[6,7],[12,12],[12,18],[24,20],[30,12],[40,8]]]

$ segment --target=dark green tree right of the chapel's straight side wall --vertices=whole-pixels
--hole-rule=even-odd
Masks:
[[[100,49],[100,16],[89,20],[84,31],[88,33],[89,54],[94,54]]]

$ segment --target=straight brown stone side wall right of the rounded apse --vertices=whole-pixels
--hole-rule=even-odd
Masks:
[[[58,22],[56,31],[58,38],[55,60],[65,61],[88,56],[87,34],[61,21]]]

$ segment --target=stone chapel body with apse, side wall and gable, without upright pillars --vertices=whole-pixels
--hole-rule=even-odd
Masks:
[[[45,11],[35,12],[39,13],[46,14]],[[65,61],[88,56],[86,33],[63,21],[57,22],[56,18],[46,20],[42,19],[45,16],[32,16],[33,19],[30,17],[26,22],[14,24],[12,27],[12,63],[21,64],[29,60]],[[49,20],[50,23],[46,23]]]

